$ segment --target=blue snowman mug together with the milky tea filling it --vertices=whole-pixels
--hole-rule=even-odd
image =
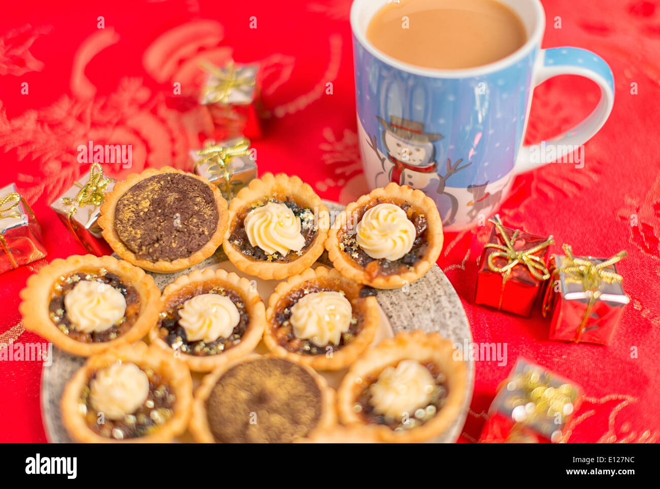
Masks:
[[[350,24],[366,183],[422,190],[445,231],[485,225],[515,175],[550,162],[536,158],[545,143],[523,144],[535,86],[577,74],[601,88],[596,109],[548,141],[556,158],[612,110],[603,59],[578,47],[541,49],[539,0],[353,0]]]

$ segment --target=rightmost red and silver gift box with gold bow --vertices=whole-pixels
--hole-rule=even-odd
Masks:
[[[612,258],[573,256],[568,244],[565,255],[553,255],[552,279],[543,299],[543,316],[552,315],[550,339],[607,345],[630,302],[616,273],[622,251]]]

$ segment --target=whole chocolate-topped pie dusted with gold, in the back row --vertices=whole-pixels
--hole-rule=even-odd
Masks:
[[[106,194],[98,223],[124,260],[170,273],[209,258],[222,244],[227,202],[204,177],[163,167],[132,173]]]

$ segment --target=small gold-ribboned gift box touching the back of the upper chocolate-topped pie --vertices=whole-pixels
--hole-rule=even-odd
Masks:
[[[252,159],[247,138],[207,141],[201,150],[191,151],[190,156],[195,161],[195,173],[217,185],[227,200],[257,178],[257,163]]]

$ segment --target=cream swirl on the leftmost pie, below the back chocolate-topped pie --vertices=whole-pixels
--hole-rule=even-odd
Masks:
[[[64,297],[71,326],[84,333],[108,330],[123,318],[126,299],[107,283],[81,280]]]

